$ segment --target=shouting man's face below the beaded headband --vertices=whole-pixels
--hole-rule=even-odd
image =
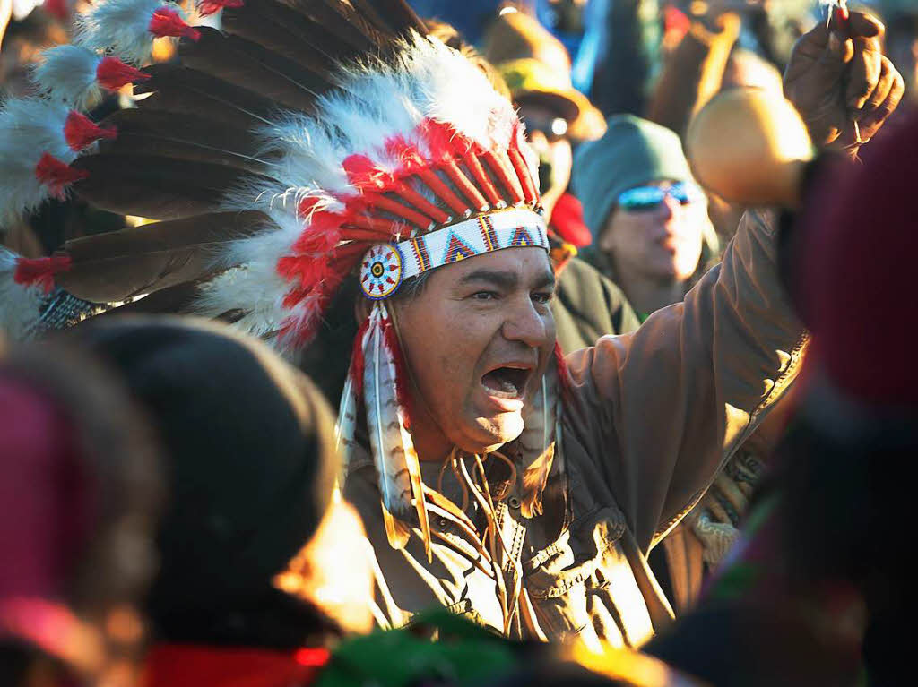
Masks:
[[[432,271],[395,306],[412,371],[422,459],[482,453],[520,436],[523,406],[554,350],[554,272],[541,248],[503,249]],[[430,440],[430,438],[435,438]]]

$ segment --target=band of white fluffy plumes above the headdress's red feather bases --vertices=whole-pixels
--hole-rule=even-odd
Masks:
[[[282,115],[260,132],[258,157],[274,160],[268,176],[281,186],[237,189],[226,200],[236,210],[270,205],[280,228],[237,242],[227,263],[242,267],[209,283],[201,305],[206,313],[247,311],[240,324],[256,334],[274,330],[287,317],[310,315],[308,302],[297,311],[283,305],[290,284],[277,274],[277,260],[290,253],[304,230],[298,200],[357,193],[341,167],[348,156],[366,155],[393,169],[397,161],[386,153],[386,139],[401,135],[424,150],[417,127],[428,118],[448,122],[484,148],[506,148],[517,121],[484,73],[458,52],[417,35],[397,64],[377,61],[344,71],[341,88],[317,105],[316,116]]]

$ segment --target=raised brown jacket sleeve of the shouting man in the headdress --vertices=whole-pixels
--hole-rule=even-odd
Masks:
[[[683,303],[567,357],[568,431],[599,461],[645,550],[697,503],[800,367],[806,337],[778,283],[775,233],[747,213]]]

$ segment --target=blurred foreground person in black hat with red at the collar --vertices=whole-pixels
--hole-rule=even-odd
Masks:
[[[364,530],[332,499],[319,392],[216,324],[100,317],[62,338],[116,371],[162,437],[146,686],[308,684],[342,635],[373,625]]]

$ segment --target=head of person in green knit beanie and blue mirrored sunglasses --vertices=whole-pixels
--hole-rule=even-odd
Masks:
[[[703,253],[716,252],[716,238],[676,133],[632,115],[608,124],[574,161],[574,191],[593,235],[583,256],[621,286],[643,319],[682,300],[708,266]]]

